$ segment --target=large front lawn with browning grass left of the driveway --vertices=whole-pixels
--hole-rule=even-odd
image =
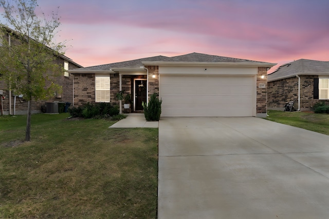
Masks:
[[[0,218],[156,218],[158,129],[0,116]]]

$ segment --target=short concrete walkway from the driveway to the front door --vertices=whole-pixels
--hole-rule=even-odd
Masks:
[[[159,122],[147,122],[143,113],[129,113],[123,120],[108,128],[158,128]]]

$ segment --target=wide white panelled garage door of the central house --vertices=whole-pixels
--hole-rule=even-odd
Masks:
[[[254,116],[255,77],[160,75],[161,116]]]

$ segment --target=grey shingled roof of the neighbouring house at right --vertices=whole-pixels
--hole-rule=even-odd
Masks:
[[[296,75],[329,75],[329,62],[310,59],[298,59],[284,64],[277,70],[267,75],[267,81],[295,77]]]

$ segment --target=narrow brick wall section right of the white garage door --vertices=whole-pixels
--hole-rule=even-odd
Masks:
[[[264,75],[264,78],[262,78]],[[257,98],[256,98],[256,107],[257,114],[259,113],[267,113],[267,86],[265,88],[260,88],[259,84],[265,84],[267,82],[267,68],[266,67],[258,67],[257,73]]]

